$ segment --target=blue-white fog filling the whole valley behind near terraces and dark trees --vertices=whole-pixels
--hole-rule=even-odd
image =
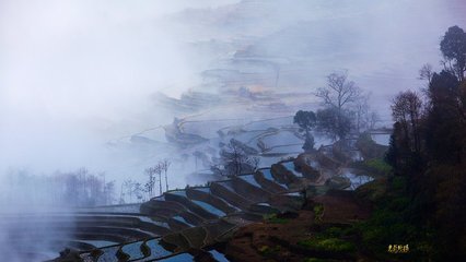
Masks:
[[[293,116],[317,109],[333,72],[391,127],[392,98],[424,84],[423,64],[441,69],[441,36],[465,14],[463,0],[0,0],[0,245],[11,261],[50,259],[89,223],[74,207],[136,213],[203,184],[232,139],[256,167],[298,155]],[[128,191],[163,160],[170,186]],[[8,246],[37,226],[42,245]]]

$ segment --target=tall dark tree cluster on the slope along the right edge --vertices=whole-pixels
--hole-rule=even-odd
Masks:
[[[386,160],[408,182],[409,218],[433,229],[435,260],[466,258],[466,33],[450,27],[441,41],[444,70],[428,78],[422,98],[393,102]]]

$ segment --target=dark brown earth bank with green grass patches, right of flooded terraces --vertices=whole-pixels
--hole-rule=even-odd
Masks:
[[[369,261],[358,250],[358,237],[345,233],[369,215],[370,206],[353,191],[330,190],[296,213],[241,228],[221,249],[231,261]]]

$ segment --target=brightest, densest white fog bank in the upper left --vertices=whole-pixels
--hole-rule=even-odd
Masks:
[[[95,162],[105,139],[141,128],[115,130],[153,110],[151,94],[196,82],[166,17],[232,2],[0,0],[1,165]]]

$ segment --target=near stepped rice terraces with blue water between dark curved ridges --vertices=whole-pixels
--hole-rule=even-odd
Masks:
[[[290,210],[290,206],[300,209],[303,199],[299,192],[311,183],[295,170],[293,160],[280,162],[280,165],[289,171],[261,168],[257,174],[238,175],[209,187],[172,190],[142,204],[5,216],[0,227],[16,233],[26,230],[27,239],[11,238],[10,245],[23,247],[15,251],[24,255],[36,252],[36,258],[71,247],[84,261],[92,262],[189,261],[199,255],[187,253],[189,250],[211,247],[232,230],[261,221],[267,214]],[[319,163],[313,166],[318,167]],[[341,176],[351,181],[350,189],[372,179],[350,169],[342,169]],[[55,236],[53,249],[27,248],[46,235]],[[215,250],[203,255],[226,261]]]

